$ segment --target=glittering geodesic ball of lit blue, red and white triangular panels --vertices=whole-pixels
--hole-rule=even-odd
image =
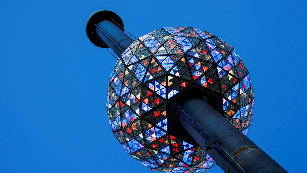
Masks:
[[[215,165],[197,143],[169,129],[169,100],[193,86],[221,98],[220,113],[247,133],[254,101],[250,76],[222,39],[192,27],[167,27],[138,38],[122,53],[111,73],[106,106],[112,131],[129,155],[162,172]]]

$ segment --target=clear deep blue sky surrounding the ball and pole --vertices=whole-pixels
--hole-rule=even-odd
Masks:
[[[117,13],[135,37],[192,26],[230,43],[255,91],[247,136],[287,171],[303,172],[306,8],[305,1],[0,2],[0,172],[153,172],[109,127],[104,105],[116,60],[84,30],[98,9]]]

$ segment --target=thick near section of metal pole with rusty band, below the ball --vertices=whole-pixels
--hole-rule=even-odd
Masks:
[[[221,142],[225,150],[246,172],[287,172],[247,136],[236,129],[220,113],[201,99],[190,99],[182,105],[183,110],[205,133]],[[213,149],[207,150],[204,138],[185,119],[179,119],[188,133],[208,152],[225,172],[237,172]]]

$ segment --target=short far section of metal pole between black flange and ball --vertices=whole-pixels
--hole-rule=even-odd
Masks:
[[[103,20],[96,26],[96,33],[117,56],[120,56],[134,42],[126,33],[109,20]]]

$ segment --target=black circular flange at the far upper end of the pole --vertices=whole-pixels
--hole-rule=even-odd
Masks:
[[[117,25],[112,19],[120,25],[119,29],[124,31],[124,24],[122,22],[122,19],[113,11],[104,10],[104,9],[96,10],[87,18],[87,21],[85,24],[85,32],[86,32],[87,38],[90,39],[90,41],[95,46],[102,47],[102,48],[109,47],[97,35],[95,24],[98,24],[102,20],[110,20],[115,25]]]

